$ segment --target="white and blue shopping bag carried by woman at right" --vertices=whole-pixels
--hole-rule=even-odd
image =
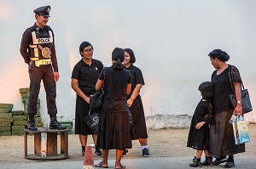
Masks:
[[[232,126],[236,144],[244,144],[250,141],[247,121],[242,115],[236,115],[236,119],[233,121]]]

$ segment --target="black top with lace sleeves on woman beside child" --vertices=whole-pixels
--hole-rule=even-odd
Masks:
[[[230,77],[229,77],[230,70]],[[214,113],[221,113],[233,109],[230,102],[230,94],[233,90],[230,85],[230,78],[232,84],[234,82],[241,82],[241,76],[239,70],[234,65],[229,65],[221,74],[217,75],[217,70],[212,73],[212,85],[213,85],[213,110]]]

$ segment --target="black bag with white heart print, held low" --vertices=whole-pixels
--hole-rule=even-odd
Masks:
[[[89,115],[84,117],[84,122],[90,128],[90,130],[94,133],[98,133],[100,114],[91,110],[89,111]]]

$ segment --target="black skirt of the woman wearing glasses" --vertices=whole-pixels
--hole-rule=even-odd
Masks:
[[[76,112],[75,112],[75,134],[91,135],[94,134],[84,122],[84,117],[89,114],[89,104],[85,102],[79,95],[76,99]]]

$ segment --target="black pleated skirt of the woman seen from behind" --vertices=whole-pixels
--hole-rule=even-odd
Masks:
[[[131,149],[127,111],[102,110],[97,144],[101,149]]]

